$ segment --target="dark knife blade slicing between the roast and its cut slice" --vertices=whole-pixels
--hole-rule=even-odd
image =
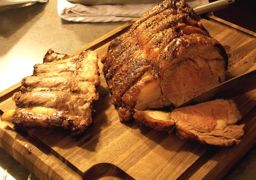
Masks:
[[[252,91],[254,89],[256,89],[256,69],[227,80],[224,83],[219,84],[188,101],[185,101],[178,107],[204,103],[214,99],[228,99]]]

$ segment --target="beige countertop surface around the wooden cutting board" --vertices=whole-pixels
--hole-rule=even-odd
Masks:
[[[57,0],[0,12],[0,92],[30,76],[48,49],[70,54],[122,24],[65,21],[57,14]],[[223,180],[255,180],[255,168],[254,146]],[[5,169],[6,180],[27,180],[30,173],[0,148],[0,179]]]

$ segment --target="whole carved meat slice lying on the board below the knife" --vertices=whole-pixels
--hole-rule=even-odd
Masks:
[[[241,118],[233,100],[214,100],[194,106],[161,111],[136,111],[136,122],[155,130],[176,132],[184,139],[214,146],[239,143],[244,124],[235,125]]]

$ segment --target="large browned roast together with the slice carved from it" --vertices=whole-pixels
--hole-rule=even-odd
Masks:
[[[241,115],[233,101],[169,113],[148,111],[177,107],[225,80],[224,47],[184,0],[164,0],[145,13],[110,43],[101,62],[120,121],[135,119],[155,130],[218,146],[238,143],[243,135],[244,125],[234,125]]]

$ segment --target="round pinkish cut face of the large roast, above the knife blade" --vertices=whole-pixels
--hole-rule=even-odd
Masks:
[[[175,107],[224,82],[225,61],[216,44],[213,38],[194,34],[172,46],[176,56],[163,70],[161,89]]]

